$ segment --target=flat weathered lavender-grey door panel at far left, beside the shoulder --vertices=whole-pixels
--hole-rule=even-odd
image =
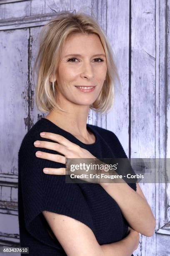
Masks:
[[[0,173],[4,174],[18,173],[16,152],[28,131],[28,38],[26,29],[0,31]]]

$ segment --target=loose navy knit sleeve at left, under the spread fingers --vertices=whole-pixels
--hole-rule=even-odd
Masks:
[[[41,159],[35,156],[36,151],[60,154],[46,148],[34,146],[35,140],[51,141],[36,136],[26,135],[18,153],[18,175],[20,178],[24,222],[27,231],[39,241],[58,247],[47,232],[47,222],[43,210],[67,215],[78,220],[93,230],[90,209],[78,184],[66,183],[65,175],[43,173],[42,169],[60,168],[65,164]],[[54,142],[54,141],[53,141]],[[62,155],[62,154],[60,154]]]

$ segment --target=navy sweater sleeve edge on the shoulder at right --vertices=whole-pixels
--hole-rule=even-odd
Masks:
[[[112,137],[113,137],[113,145],[114,145],[114,154],[116,156],[116,158],[128,158],[128,156],[126,155],[122,144],[120,143],[119,139],[117,138],[117,136],[115,135],[115,133],[112,133]],[[130,164],[130,161],[128,161],[129,166],[130,166],[130,173],[135,175],[135,172]],[[135,179],[136,180],[136,179]],[[134,189],[136,191],[136,183],[127,183],[132,189]]]

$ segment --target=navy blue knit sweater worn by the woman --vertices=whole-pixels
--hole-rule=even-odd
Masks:
[[[36,140],[51,141],[40,137],[40,132],[47,131],[60,134],[86,148],[96,158],[127,158],[112,131],[90,124],[87,124],[87,129],[95,135],[95,143],[82,143],[50,120],[41,118],[23,138],[18,152],[18,217],[20,245],[29,247],[31,256],[66,255],[57,238],[50,236],[43,210],[67,215],[84,223],[91,228],[100,245],[120,241],[127,236],[128,223],[119,205],[100,184],[66,183],[65,175],[44,174],[42,169],[45,167],[65,168],[65,164],[35,156],[38,150],[60,154],[34,146]],[[136,191],[135,183],[129,186]]]

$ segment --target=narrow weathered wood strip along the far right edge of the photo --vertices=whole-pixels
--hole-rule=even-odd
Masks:
[[[170,113],[168,108],[168,101],[170,95],[168,95],[168,77],[170,71],[168,70],[169,59],[169,45],[170,38],[168,38],[168,24],[170,19],[170,2],[167,5],[164,1],[159,2],[157,5],[157,67],[156,67],[156,148],[155,153],[157,158],[170,157],[169,148],[170,143],[168,141],[170,133]],[[164,58],[163,58],[164,56]],[[158,175],[163,180],[165,173],[159,172]],[[160,183],[156,185],[156,230],[162,228],[168,221],[170,221],[170,184]],[[168,209],[167,209],[168,206]],[[169,238],[170,239],[170,238]]]

